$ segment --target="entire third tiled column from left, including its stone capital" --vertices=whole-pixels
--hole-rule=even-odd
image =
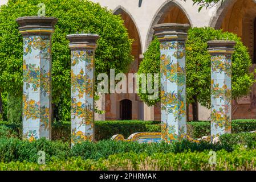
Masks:
[[[153,27],[161,51],[161,132],[170,143],[186,137],[185,40],[189,24]]]

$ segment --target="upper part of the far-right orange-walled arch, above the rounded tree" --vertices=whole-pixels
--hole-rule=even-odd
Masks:
[[[241,37],[243,44],[249,49],[251,59],[256,63],[255,18],[256,3],[254,0],[226,0],[218,7],[210,26],[233,32]]]

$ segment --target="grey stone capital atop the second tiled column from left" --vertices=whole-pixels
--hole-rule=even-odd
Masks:
[[[73,49],[95,49],[96,41],[100,36],[97,34],[71,34],[67,35],[67,39],[70,41],[69,47]]]

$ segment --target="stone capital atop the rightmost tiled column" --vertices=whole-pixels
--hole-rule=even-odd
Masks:
[[[210,40],[207,43],[210,55],[231,55],[234,52],[235,44],[237,44],[237,42],[231,40]]]

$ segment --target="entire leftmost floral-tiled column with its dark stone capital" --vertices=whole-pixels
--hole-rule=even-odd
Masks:
[[[23,138],[51,139],[51,35],[58,19],[16,21],[23,36]]]

